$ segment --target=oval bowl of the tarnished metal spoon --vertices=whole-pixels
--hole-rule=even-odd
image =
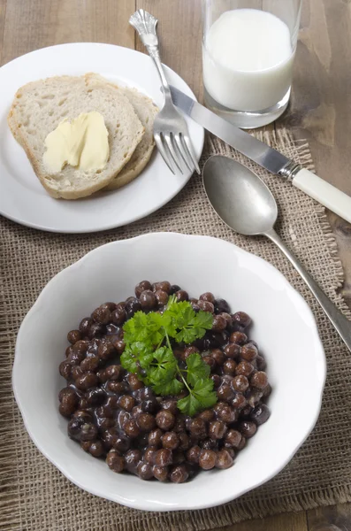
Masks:
[[[228,227],[241,235],[262,235],[277,221],[271,190],[233,158],[214,155],[203,167],[203,185],[210,204]]]

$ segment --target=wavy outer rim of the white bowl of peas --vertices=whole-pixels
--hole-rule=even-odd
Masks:
[[[317,346],[320,349],[320,367],[318,367],[319,368],[319,373],[320,373],[320,376],[319,376],[320,389],[319,389],[317,407],[316,407],[316,411],[315,411],[315,414],[314,414],[313,418],[311,417],[311,419],[310,419],[309,428],[305,430],[303,436],[301,437],[300,443],[296,444],[296,446],[294,447],[294,450],[292,450],[289,453],[289,455],[286,456],[286,458],[284,460],[282,460],[282,462],[279,464],[279,466],[276,466],[271,471],[270,474],[267,474],[267,476],[262,481],[256,481],[256,483],[252,484],[247,489],[242,489],[242,491],[240,491],[240,493],[235,495],[234,497],[233,497],[233,495],[231,496],[230,494],[226,495],[226,496],[223,495],[222,498],[220,500],[218,499],[216,502],[200,500],[199,503],[188,505],[188,506],[185,505],[185,504],[177,504],[177,503],[173,504],[172,506],[167,505],[167,504],[155,504],[155,502],[152,502],[152,501],[146,500],[146,499],[143,499],[143,500],[135,499],[135,500],[131,501],[131,500],[129,500],[129,499],[123,497],[123,496],[120,496],[116,492],[113,493],[113,496],[112,495],[109,496],[109,495],[106,495],[103,492],[103,490],[100,489],[99,487],[90,488],[90,487],[87,487],[87,486],[81,484],[80,481],[77,481],[74,477],[72,477],[72,475],[70,473],[70,468],[69,468],[68,465],[67,466],[65,466],[65,465],[57,465],[57,462],[53,458],[50,458],[50,453],[43,448],[43,446],[45,446],[45,445],[42,445],[41,441],[39,441],[36,438],[36,436],[34,435],[34,433],[31,431],[31,429],[29,427],[30,422],[28,421],[28,419],[26,417],[24,401],[19,396],[20,395],[19,389],[16,388],[16,374],[17,374],[17,371],[18,371],[18,368],[19,368],[19,365],[20,365],[20,358],[23,355],[23,354],[21,354],[21,351],[23,352],[23,349],[21,349],[22,336],[24,334],[23,330],[27,326],[27,322],[30,321],[34,317],[34,314],[36,312],[38,312],[38,310],[40,310],[40,307],[42,305],[42,301],[44,300],[47,291],[49,291],[52,288],[52,286],[55,283],[57,283],[57,281],[59,281],[60,278],[65,273],[67,273],[68,271],[75,272],[75,270],[79,269],[80,266],[82,266],[87,260],[89,260],[89,258],[91,256],[99,253],[100,250],[103,249],[103,248],[112,247],[112,246],[115,246],[115,245],[128,245],[129,242],[136,242],[138,240],[147,239],[149,237],[151,237],[151,238],[163,238],[164,236],[165,237],[171,236],[171,237],[179,238],[179,240],[183,239],[183,238],[186,238],[188,240],[189,239],[190,240],[207,239],[207,240],[210,240],[210,241],[216,240],[216,242],[221,242],[224,246],[226,246],[228,248],[230,246],[239,255],[240,254],[241,255],[246,255],[246,256],[248,255],[250,257],[250,259],[256,260],[257,263],[259,263],[259,262],[264,263],[265,266],[268,266],[269,268],[271,268],[271,270],[274,271],[274,273],[279,275],[280,280],[283,281],[283,285],[285,285],[286,289],[290,290],[291,294],[292,295],[294,294],[294,297],[296,299],[300,299],[300,303],[302,303],[305,306],[305,310],[309,313],[309,316],[311,318],[310,319],[310,324],[313,325],[313,327],[311,327],[311,334],[315,335],[316,344],[317,344]],[[286,465],[291,461],[291,459],[294,457],[295,453],[301,448],[302,444],[305,443],[305,441],[307,440],[307,438],[311,434],[312,430],[316,426],[317,419],[319,417],[319,413],[320,413],[321,406],[322,406],[322,399],[323,399],[323,394],[324,394],[325,380],[326,380],[326,358],[325,358],[323,343],[322,343],[321,338],[320,338],[319,333],[318,333],[317,321],[315,319],[315,316],[314,316],[313,312],[311,311],[311,309],[309,308],[309,304],[305,301],[305,299],[301,296],[301,294],[296,289],[294,289],[294,287],[290,284],[290,282],[287,281],[286,276],[283,273],[281,273],[279,271],[279,269],[277,269],[275,266],[272,266],[271,263],[268,262],[267,260],[265,260],[264,258],[258,257],[254,253],[251,253],[251,252],[248,252],[247,250],[241,249],[235,243],[227,242],[227,241],[225,241],[225,240],[223,240],[221,238],[217,238],[217,237],[214,237],[214,236],[207,236],[207,235],[184,235],[182,233],[176,233],[176,232],[155,232],[155,233],[148,233],[146,235],[134,236],[133,238],[126,238],[125,240],[117,240],[117,241],[114,241],[114,242],[104,243],[103,245],[100,245],[99,247],[96,247],[95,249],[88,251],[88,253],[83,255],[77,261],[73,262],[70,266],[66,266],[60,272],[56,273],[50,279],[50,281],[47,282],[47,284],[44,286],[44,288],[40,292],[39,296],[35,300],[33,306],[27,312],[27,315],[25,316],[25,318],[23,319],[23,321],[22,321],[22,323],[21,323],[21,325],[19,327],[19,332],[18,332],[17,340],[16,340],[16,347],[15,347],[15,357],[14,357],[14,362],[13,362],[13,367],[12,367],[11,383],[12,383],[13,394],[15,396],[16,403],[18,404],[19,412],[21,413],[21,417],[22,417],[23,423],[24,423],[24,425],[26,427],[27,434],[29,435],[29,437],[33,441],[33,443],[35,444],[36,448],[42,453],[42,455],[45,458],[47,458],[52,465],[56,466],[56,468],[61,473],[63,473],[65,475],[65,478],[67,478],[69,481],[72,481],[72,483],[74,485],[76,485],[77,487],[79,487],[82,490],[85,490],[85,491],[89,492],[90,494],[102,497],[103,499],[110,500],[111,502],[114,502],[114,503],[123,504],[123,505],[125,505],[127,507],[130,507],[130,508],[133,508],[133,509],[138,509],[138,510],[146,511],[146,512],[152,512],[152,511],[156,511],[156,512],[173,512],[173,511],[187,511],[187,510],[208,509],[210,507],[216,507],[216,506],[221,505],[221,504],[229,503],[229,502],[233,501],[234,499],[237,499],[238,497],[243,496],[244,494],[248,493],[249,491],[251,491],[253,489],[256,489],[257,487],[260,487],[261,485],[263,485],[267,481],[270,481],[278,473],[280,473],[283,470],[283,468],[285,468]]]

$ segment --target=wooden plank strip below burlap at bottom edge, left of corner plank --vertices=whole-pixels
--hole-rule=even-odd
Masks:
[[[216,531],[308,531],[305,512],[286,512],[265,519],[248,520]],[[335,530],[337,531],[337,530]]]

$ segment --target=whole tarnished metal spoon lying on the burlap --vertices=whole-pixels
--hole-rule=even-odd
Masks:
[[[290,260],[351,351],[351,322],[332,304],[274,230],[278,207],[271,190],[247,167],[232,158],[210,157],[202,170],[203,185],[218,216],[241,235],[264,235]]]

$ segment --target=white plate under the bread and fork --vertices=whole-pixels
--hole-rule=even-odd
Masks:
[[[195,97],[170,68],[168,80]],[[88,233],[121,227],[148,216],[178,194],[191,173],[173,175],[159,153],[137,179],[113,192],[77,201],[53,199],[36,178],[24,150],[7,125],[13,96],[20,86],[53,75],[101,73],[111,81],[141,90],[162,106],[158,74],[149,56],[112,44],[76,42],[43,48],[0,68],[0,213],[28,227],[60,233]],[[189,135],[199,159],[203,129],[188,119]]]

